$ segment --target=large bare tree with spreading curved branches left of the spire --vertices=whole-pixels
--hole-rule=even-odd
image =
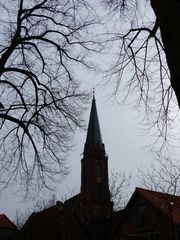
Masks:
[[[98,51],[95,13],[85,0],[4,0],[0,11],[0,183],[49,188],[83,126],[75,69]]]

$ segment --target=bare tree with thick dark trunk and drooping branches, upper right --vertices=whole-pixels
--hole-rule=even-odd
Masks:
[[[135,105],[146,113],[147,130],[156,129],[163,146],[168,125],[177,117],[177,106],[180,107],[177,28],[180,3],[176,0],[103,2],[116,24],[113,31],[110,25],[108,35],[116,47],[116,61],[106,76],[116,83],[116,94],[124,86],[125,99],[129,94],[136,98]]]

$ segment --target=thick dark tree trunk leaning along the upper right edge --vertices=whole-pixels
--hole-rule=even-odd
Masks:
[[[180,1],[151,0],[170,70],[171,85],[180,107]]]

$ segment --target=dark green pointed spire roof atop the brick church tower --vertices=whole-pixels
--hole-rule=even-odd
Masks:
[[[96,146],[97,144],[103,145],[101,130],[99,126],[98,114],[96,109],[96,100],[93,96],[91,113],[89,118],[89,125],[86,137],[86,144]]]

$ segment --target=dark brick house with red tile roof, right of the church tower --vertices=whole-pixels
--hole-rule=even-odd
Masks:
[[[113,235],[118,240],[179,240],[180,197],[136,188]]]

